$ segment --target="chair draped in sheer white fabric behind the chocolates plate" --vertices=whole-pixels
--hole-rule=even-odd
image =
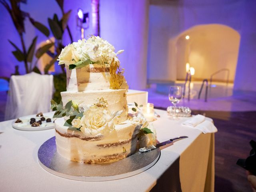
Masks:
[[[50,100],[53,93],[52,75],[31,72],[26,75],[11,76],[5,120],[39,112],[50,112]]]

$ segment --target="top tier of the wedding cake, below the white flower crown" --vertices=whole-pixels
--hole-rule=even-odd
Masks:
[[[110,87],[110,68],[100,64],[67,69],[67,91],[104,90]]]

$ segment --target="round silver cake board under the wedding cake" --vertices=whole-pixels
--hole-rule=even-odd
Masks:
[[[111,163],[86,164],[67,160],[56,150],[55,136],[38,150],[38,162],[48,172],[80,181],[109,181],[134,176],[152,167],[160,157],[160,149],[146,153],[136,152]]]

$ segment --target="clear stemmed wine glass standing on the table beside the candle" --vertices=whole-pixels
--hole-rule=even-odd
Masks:
[[[174,113],[172,116],[172,120],[178,120],[179,118],[176,116],[176,104],[180,102],[182,98],[182,89],[181,86],[170,86],[169,90],[169,100],[174,105]]]

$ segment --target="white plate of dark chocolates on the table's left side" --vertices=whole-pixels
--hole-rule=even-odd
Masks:
[[[12,127],[23,131],[39,131],[54,128],[52,116],[38,113],[20,117],[12,122]]]

